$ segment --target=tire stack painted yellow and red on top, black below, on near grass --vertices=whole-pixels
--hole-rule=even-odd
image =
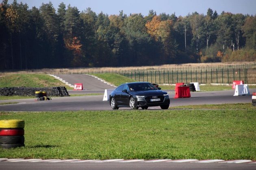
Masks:
[[[0,148],[24,147],[24,120],[0,120]]]

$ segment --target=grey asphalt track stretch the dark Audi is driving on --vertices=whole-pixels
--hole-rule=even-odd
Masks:
[[[256,91],[252,89],[251,91]],[[93,93],[93,90],[83,90],[81,93]],[[112,110],[108,101],[103,100],[102,95],[97,96],[76,96],[76,97],[56,97],[52,100],[37,101],[35,98],[18,100],[0,100],[4,102],[19,102],[18,104],[0,105],[2,111],[65,111],[65,110]],[[72,90],[69,91],[69,94]],[[225,91],[198,91],[191,92],[191,98],[174,99],[174,91],[168,91],[170,98],[170,108],[172,106],[185,106],[197,104],[224,104],[224,103],[252,103],[252,96],[233,96],[234,90]],[[130,110],[130,108],[119,108]],[[161,110],[160,107],[149,107],[149,110]]]

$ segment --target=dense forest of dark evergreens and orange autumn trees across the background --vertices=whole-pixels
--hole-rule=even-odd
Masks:
[[[256,15],[96,14],[0,3],[0,70],[256,60]]]

